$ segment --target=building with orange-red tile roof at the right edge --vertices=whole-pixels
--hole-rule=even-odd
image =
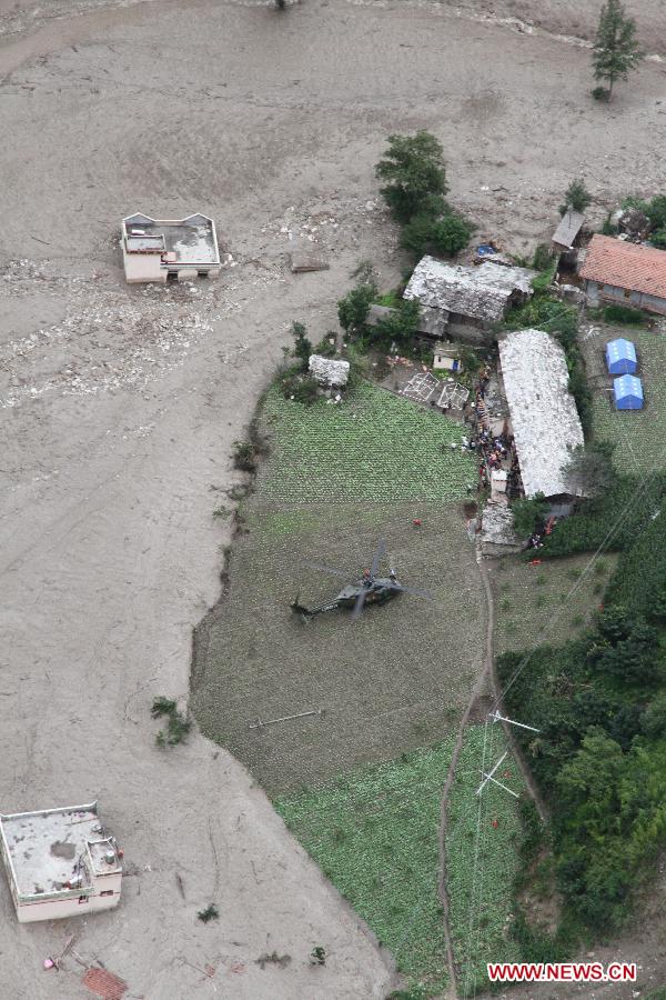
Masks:
[[[592,306],[618,302],[666,316],[666,251],[595,234],[582,259]]]

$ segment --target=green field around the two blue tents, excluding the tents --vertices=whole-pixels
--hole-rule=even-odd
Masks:
[[[625,337],[636,346],[637,376],[643,381],[643,410],[616,410],[613,377],[607,374],[604,351],[609,340]],[[587,370],[594,390],[593,431],[596,438],[612,441],[614,462],[622,472],[644,476],[666,464],[666,336],[659,331],[607,328],[583,342]]]

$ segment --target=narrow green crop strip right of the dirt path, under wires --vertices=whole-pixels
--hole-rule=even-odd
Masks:
[[[470,726],[448,798],[446,886],[458,993],[463,997],[488,987],[487,962],[521,960],[519,947],[508,934],[523,837],[518,800],[492,782],[476,794],[483,761],[486,771],[491,770],[505,750],[500,724]],[[522,776],[511,754],[495,777],[521,793]]]

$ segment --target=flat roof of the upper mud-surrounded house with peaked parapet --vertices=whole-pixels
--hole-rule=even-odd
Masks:
[[[208,216],[186,219],[151,219],[129,216],[123,219],[129,253],[174,253],[178,263],[220,263],[215,224]]]

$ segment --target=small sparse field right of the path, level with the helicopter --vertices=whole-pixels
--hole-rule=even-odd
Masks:
[[[589,566],[589,556],[544,559],[531,566],[506,556],[491,567],[495,596],[495,653],[557,646],[579,634],[604,599],[616,563],[606,554]]]

